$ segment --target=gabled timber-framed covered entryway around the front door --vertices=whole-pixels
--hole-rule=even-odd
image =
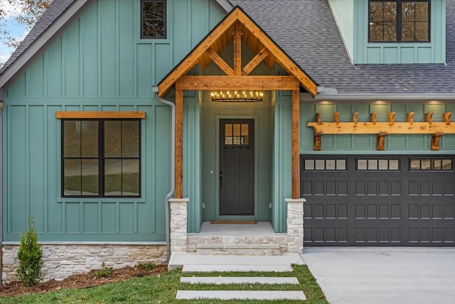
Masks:
[[[316,87],[238,6],[161,80],[159,97],[175,98],[175,199],[189,201],[188,232],[199,232],[203,221],[231,219],[287,231],[289,204],[302,204],[300,93],[316,95]],[[186,91],[197,93],[184,97]],[[227,144],[224,120],[245,120],[249,144],[240,138],[236,147],[235,135]],[[303,236],[295,239],[291,250],[299,251]]]

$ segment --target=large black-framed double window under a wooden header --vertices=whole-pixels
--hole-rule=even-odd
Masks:
[[[62,196],[141,195],[137,119],[62,120]]]

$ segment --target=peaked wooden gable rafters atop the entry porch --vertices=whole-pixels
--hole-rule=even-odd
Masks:
[[[316,83],[302,70],[299,65],[292,61],[287,56],[282,48],[279,48],[272,39],[267,36],[262,28],[250,19],[250,16],[245,14],[245,11],[240,9],[239,6],[235,8],[225,16],[225,18],[203,38],[193,50],[188,53],[188,56],[176,65],[171,72],[166,75],[163,80],[159,83],[159,95],[164,96],[171,87],[176,83],[176,80],[183,75],[186,75],[194,66],[198,63],[204,68],[210,61],[214,60],[213,53],[220,53],[228,44],[234,40],[234,35],[239,31],[242,42],[250,48],[257,56],[258,61],[264,60],[265,63],[272,67],[276,62],[278,63],[289,75],[295,76],[300,84],[309,92],[311,95],[316,95]],[[239,38],[240,41],[240,38]],[[239,54],[240,55],[240,54]],[[216,60],[216,58],[215,58]],[[215,61],[214,60],[214,61]],[[253,59],[254,61],[255,59]],[[223,63],[223,62],[222,62]],[[245,67],[246,68],[246,67]],[[239,70],[237,75],[247,75],[249,72],[245,71],[245,68]],[[229,66],[226,66],[225,70],[230,70]],[[234,72],[232,70],[232,72]],[[240,73],[241,72],[241,73]],[[233,74],[232,74],[233,75]]]

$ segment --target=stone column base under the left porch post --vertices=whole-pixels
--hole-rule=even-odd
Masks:
[[[186,252],[189,199],[169,199],[171,203],[171,253]]]

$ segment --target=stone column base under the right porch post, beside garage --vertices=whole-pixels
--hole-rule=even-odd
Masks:
[[[305,199],[284,199],[287,202],[287,252],[304,251]]]

